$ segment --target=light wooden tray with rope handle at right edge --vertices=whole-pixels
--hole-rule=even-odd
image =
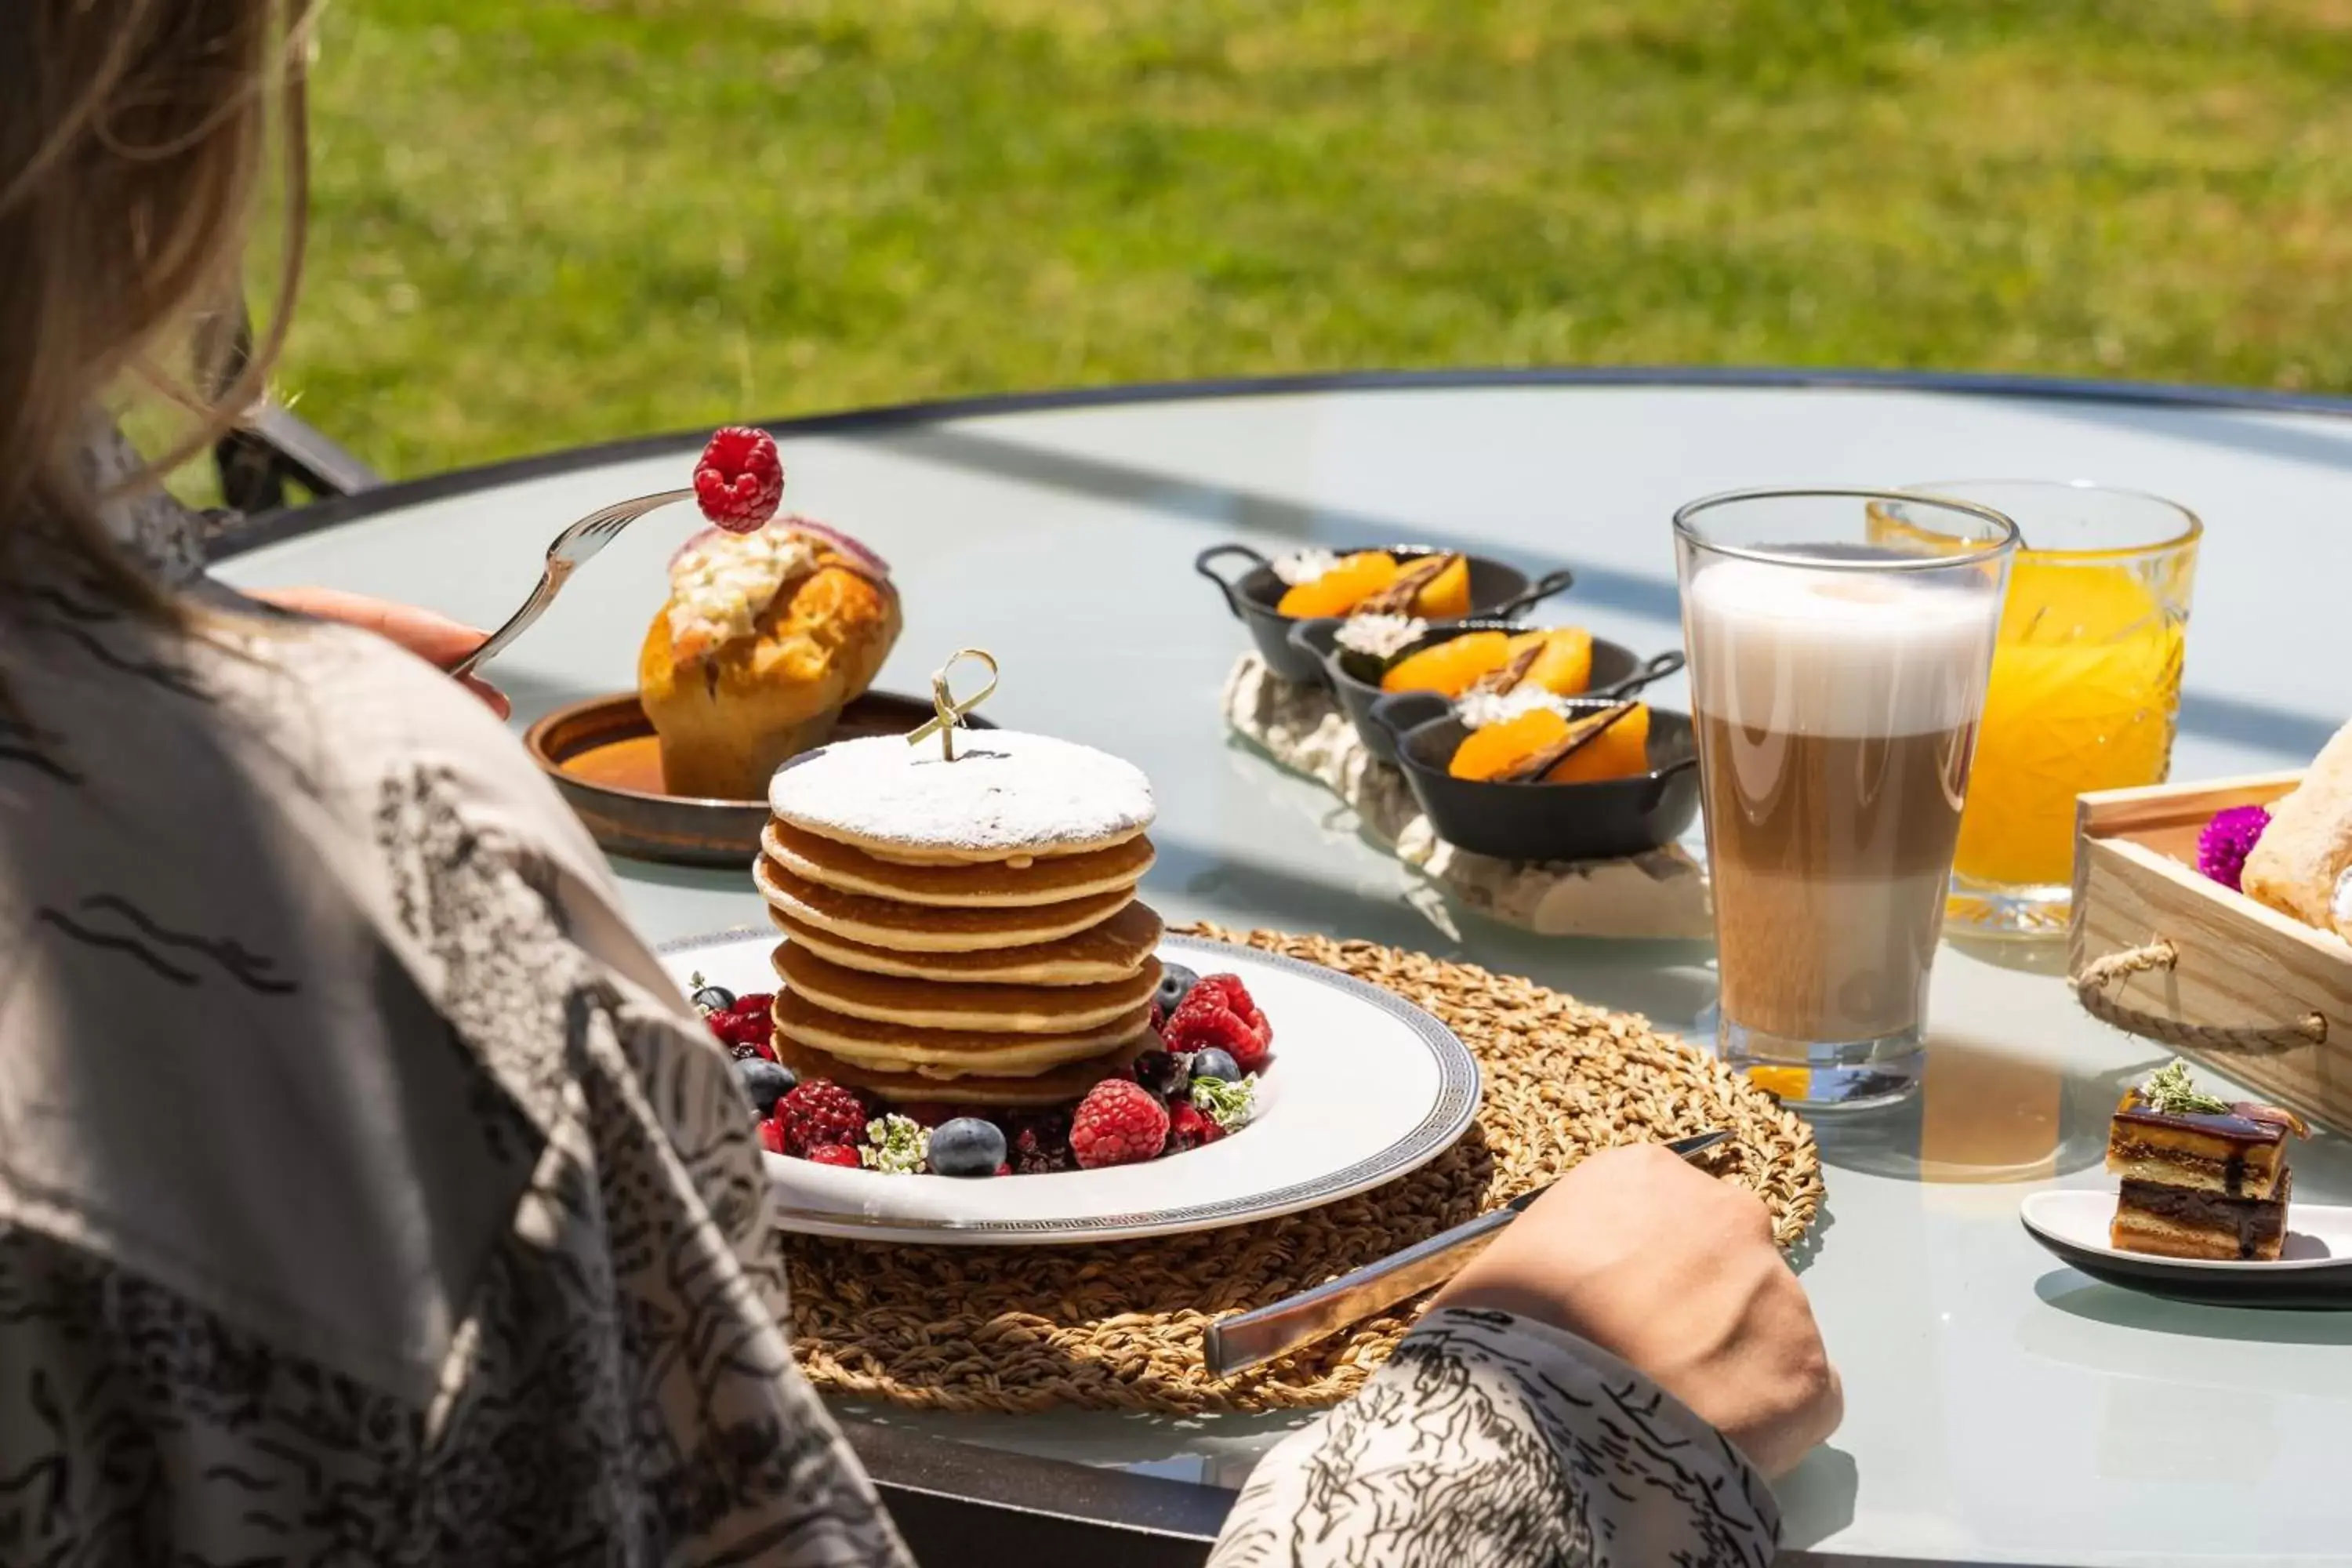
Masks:
[[[2298,773],[2105,790],[2077,809],[2067,973],[2107,1023],[2352,1128],[2352,945],[2197,872],[2197,835]]]

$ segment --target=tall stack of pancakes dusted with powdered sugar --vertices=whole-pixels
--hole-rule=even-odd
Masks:
[[[1152,1044],[1150,783],[1117,757],[964,731],[809,752],[753,867],[776,1056],[880,1100],[1056,1105]]]

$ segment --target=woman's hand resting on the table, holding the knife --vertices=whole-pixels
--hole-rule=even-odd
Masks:
[[[1764,1204],[1653,1143],[1569,1171],[1437,1305],[1515,1312],[1599,1345],[1766,1476],[1795,1469],[1846,1408]]]

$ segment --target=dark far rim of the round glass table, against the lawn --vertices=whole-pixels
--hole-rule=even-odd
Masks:
[[[1216,402],[1228,397],[1284,397],[1296,393],[1411,393],[1479,390],[1522,386],[1576,388],[1785,388],[1785,390],[1877,390],[1933,393],[1962,397],[2011,397],[2044,402],[2117,402],[2178,409],[2239,409],[2251,414],[2326,414],[2352,416],[2352,397],[2324,393],[2279,393],[2270,388],[2190,386],[2171,381],[2091,381],[2077,376],[2025,376],[2002,371],[1870,371],[1809,369],[1766,364],[1557,364],[1557,367],[1484,367],[1484,369],[1367,369],[1308,371],[1282,376],[1211,376],[1200,381],[1138,381],[1117,386],[1049,388],[1037,393],[988,393],[978,397],[936,397],[917,402],[800,414],[757,421],[776,435],[856,435],[983,418],[993,414],[1040,414],[1056,409],[1136,407],[1155,402]],[[358,522],[407,505],[463,496],[501,484],[543,480],[550,475],[626,463],[670,451],[694,451],[710,430],[675,430],[635,435],[616,442],[564,447],[501,463],[452,468],[419,480],[381,484],[353,496],[334,496],[310,505],[263,512],[247,527],[221,536],[207,550],[223,562],[249,550],[278,545],[343,522]]]

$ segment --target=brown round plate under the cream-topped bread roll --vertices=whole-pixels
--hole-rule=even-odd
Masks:
[[[929,698],[868,691],[842,710],[835,741],[903,736],[931,719]],[[995,729],[971,715],[969,729]],[[546,715],[522,736],[532,759],[588,835],[614,856],[743,870],[760,853],[767,799],[663,795],[661,743],[635,691],[593,696]]]

